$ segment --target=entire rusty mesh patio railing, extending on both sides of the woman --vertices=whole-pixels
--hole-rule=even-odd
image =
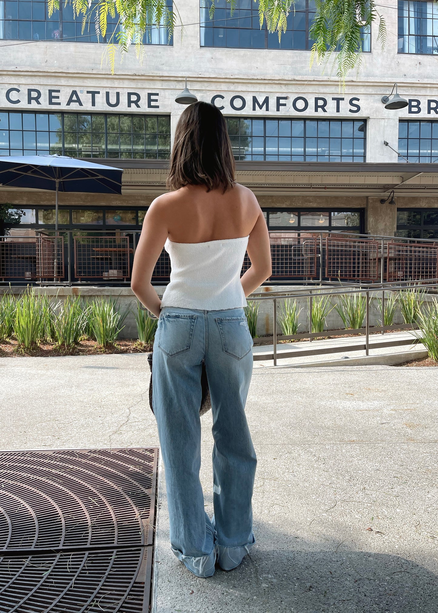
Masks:
[[[54,233],[53,233],[54,234]],[[341,232],[270,232],[273,283],[351,281],[393,283],[438,279],[438,242],[366,237]],[[138,230],[61,236],[0,237],[0,282],[129,283]],[[67,261],[64,267],[64,259]],[[55,271],[56,262],[56,271]],[[245,253],[241,274],[250,267]],[[169,254],[163,249],[152,281],[167,283]]]

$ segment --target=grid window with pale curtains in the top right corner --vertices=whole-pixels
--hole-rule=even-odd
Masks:
[[[399,0],[398,52],[438,53],[438,6],[424,0]]]

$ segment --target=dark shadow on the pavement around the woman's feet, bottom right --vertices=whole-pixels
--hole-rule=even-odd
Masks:
[[[156,613],[437,611],[437,575],[412,560],[352,551],[333,541],[321,549],[321,543],[303,542],[259,523],[255,533],[258,543],[244,562],[229,573],[217,569],[210,579],[192,576],[176,558],[163,560],[159,572],[168,573],[167,585],[173,585],[166,604],[158,595]],[[161,574],[161,588],[163,579]],[[201,603],[210,607],[202,609]]]

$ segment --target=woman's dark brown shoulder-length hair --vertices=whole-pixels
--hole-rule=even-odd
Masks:
[[[167,189],[205,185],[223,192],[234,185],[236,165],[225,119],[209,102],[183,110],[175,131]]]

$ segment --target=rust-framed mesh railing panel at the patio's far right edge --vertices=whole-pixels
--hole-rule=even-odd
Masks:
[[[438,278],[438,245],[388,242],[386,280],[421,281]]]

